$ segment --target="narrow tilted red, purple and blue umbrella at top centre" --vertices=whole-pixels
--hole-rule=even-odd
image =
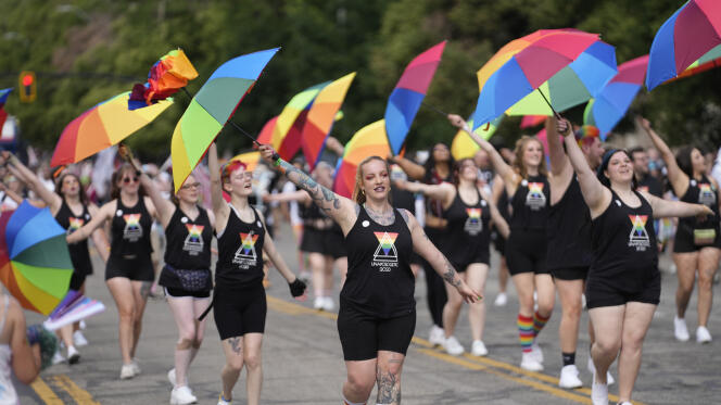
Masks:
[[[385,131],[393,154],[399,154],[408,135],[410,124],[420,109],[428,87],[431,85],[441,55],[445,48],[443,41],[416,56],[401,75],[385,106]]]

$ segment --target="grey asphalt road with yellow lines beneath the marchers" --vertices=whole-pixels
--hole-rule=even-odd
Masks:
[[[294,242],[288,227],[280,228],[277,243],[283,256],[296,268]],[[488,357],[469,354],[453,357],[433,349],[427,341],[430,317],[426,306],[425,282],[418,280],[416,298],[418,320],[416,338],[403,370],[404,404],[591,404],[591,375],[585,370],[587,333],[584,314],[577,364],[586,387],[561,390],[557,387],[561,368],[556,309],[540,337],[545,353],[543,372],[521,370],[516,329],[517,303],[513,287],[505,307],[493,306],[497,292],[497,257],[485,292],[488,320],[484,342]],[[668,260],[662,260],[668,267]],[[177,340],[175,322],[163,299],[151,300],[146,311],[138,347],[142,375],[121,381],[121,354],[117,345],[117,312],[104,286],[103,267],[96,257],[96,275],[88,279],[88,295],[105,303],[107,311],[88,319],[85,336],[90,344],[80,347],[80,363],[55,365],[43,371],[31,385],[16,383],[22,404],[162,404],[168,403],[170,384],[166,372],[173,367]],[[422,277],[422,276],[420,276]],[[311,308],[312,300],[299,303],[290,298],[284,280],[277,271],[270,275],[268,317],[263,347],[265,404],[333,404],[341,402],[345,379],[334,314]],[[338,282],[337,282],[338,283]],[[665,273],[661,304],[646,338],[641,374],[634,393],[636,404],[719,404],[721,403],[721,311],[713,308],[710,321],[716,342],[695,343],[696,296],[692,299],[687,322],[692,341],[673,338],[673,294],[675,276]],[[718,291],[718,287],[716,288]],[[336,292],[338,296],[338,292]],[[28,322],[41,318],[27,314]],[[190,387],[200,404],[215,404],[220,392],[219,372],[224,356],[213,317],[206,328],[203,346],[190,369]],[[459,318],[457,338],[469,350],[470,331],[466,311]],[[614,369],[615,372],[615,369]],[[244,376],[244,374],[243,374]],[[235,389],[233,404],[244,404],[244,380]],[[22,385],[22,387],[21,387]],[[616,393],[616,387],[610,388]],[[611,397],[612,398],[612,397]],[[375,404],[375,393],[369,404]]]

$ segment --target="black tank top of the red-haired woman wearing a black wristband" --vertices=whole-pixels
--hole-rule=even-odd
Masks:
[[[218,262],[215,265],[218,287],[242,288],[263,280],[265,228],[255,208],[252,210],[255,219],[246,224],[230,205],[228,224],[218,238]]]

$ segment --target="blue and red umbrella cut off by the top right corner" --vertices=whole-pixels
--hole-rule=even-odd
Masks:
[[[646,87],[679,76],[719,58],[721,46],[721,1],[690,0],[656,33],[650,46]],[[713,52],[711,55],[707,55]]]

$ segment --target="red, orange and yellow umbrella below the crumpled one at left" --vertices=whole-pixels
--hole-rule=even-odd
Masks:
[[[107,99],[73,119],[60,135],[51,166],[77,163],[118,143],[150,124],[173,104],[173,99],[146,109],[128,110],[130,92]]]

